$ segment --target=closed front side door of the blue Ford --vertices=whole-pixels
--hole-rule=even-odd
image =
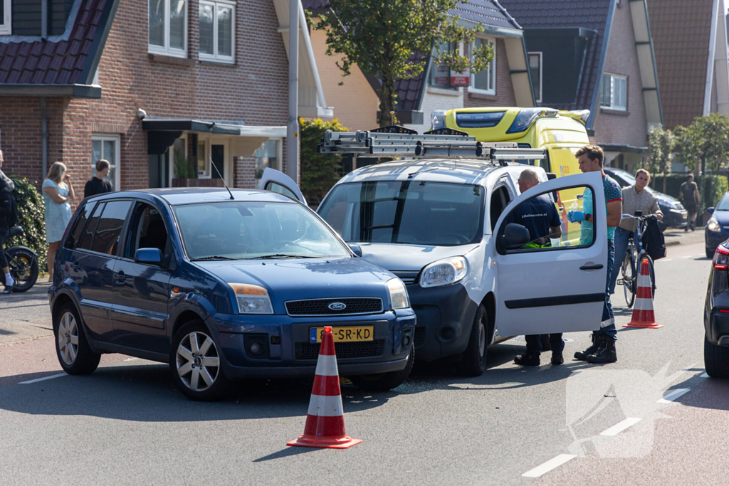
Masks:
[[[136,203],[125,242],[123,256],[114,268],[114,344],[164,353],[168,350],[168,267],[174,252],[160,211]],[[158,248],[163,265],[134,262],[140,248]]]

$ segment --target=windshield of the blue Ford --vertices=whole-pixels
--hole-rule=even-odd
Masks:
[[[190,259],[351,256],[316,216],[293,203],[203,203],[174,206]]]

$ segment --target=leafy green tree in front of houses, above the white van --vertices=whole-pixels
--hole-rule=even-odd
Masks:
[[[415,52],[431,52],[433,62],[463,73],[483,71],[494,58],[493,48],[477,47],[471,56],[461,55],[458,49],[442,50],[449,42],[469,44],[483,31],[479,23],[475,28],[459,26],[458,15],[448,15],[457,4],[467,0],[330,0],[332,13],[320,15],[313,28],[327,34],[327,55],[341,54],[337,66],[343,76],[351,74],[356,65],[364,72],[378,77],[382,87],[380,98],[380,126],[390,124],[390,111],[396,111],[397,79],[412,79],[421,74],[426,63],[414,62]]]

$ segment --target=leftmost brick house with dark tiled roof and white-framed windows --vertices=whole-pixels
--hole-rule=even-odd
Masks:
[[[171,187],[188,159],[195,185],[222,185],[217,168],[249,188],[284,169],[288,0],[3,1],[8,173],[41,180],[61,161],[81,189],[103,157],[115,189]],[[330,117],[300,33],[299,113]]]

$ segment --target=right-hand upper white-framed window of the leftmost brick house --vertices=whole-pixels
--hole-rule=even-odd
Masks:
[[[200,59],[232,63],[235,4],[200,0]]]

